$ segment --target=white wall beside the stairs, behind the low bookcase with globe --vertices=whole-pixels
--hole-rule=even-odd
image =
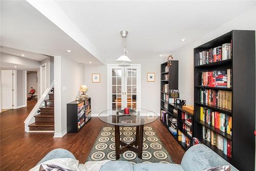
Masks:
[[[75,100],[80,86],[84,84],[84,66],[65,57],[55,56],[54,78],[54,137],[62,137],[67,131],[67,103]]]

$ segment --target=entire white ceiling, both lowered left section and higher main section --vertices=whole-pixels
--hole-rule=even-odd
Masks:
[[[33,1],[28,0],[30,4]],[[64,56],[85,65],[101,65],[89,48],[58,25],[65,17],[49,16],[26,1],[1,1],[1,44],[50,56]],[[52,2],[51,2],[52,3]],[[120,30],[128,30],[126,47],[133,59],[155,59],[217,29],[255,1],[55,1],[78,35],[88,38],[104,59],[122,54]],[[36,4],[36,3],[34,3]],[[39,4],[39,3],[38,3]],[[41,5],[52,15],[46,2]],[[40,12],[42,13],[40,13]],[[71,27],[71,25],[70,25]],[[73,28],[73,26],[72,26]],[[75,32],[75,31],[74,31]],[[186,38],[186,41],[180,41]],[[79,43],[78,43],[79,42]],[[87,50],[86,50],[87,49]],[[65,50],[72,50],[71,53]]]

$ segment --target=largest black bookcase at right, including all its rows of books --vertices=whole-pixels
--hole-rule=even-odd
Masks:
[[[254,170],[255,31],[232,30],[194,49],[194,111],[195,138]]]

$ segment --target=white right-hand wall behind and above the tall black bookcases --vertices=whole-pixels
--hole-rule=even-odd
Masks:
[[[254,6],[245,13],[233,18],[218,29],[206,34],[191,44],[173,52],[175,60],[179,60],[179,91],[180,98],[186,100],[187,104],[194,104],[194,48],[205,42],[221,36],[231,30],[255,30],[256,29],[256,7]]]

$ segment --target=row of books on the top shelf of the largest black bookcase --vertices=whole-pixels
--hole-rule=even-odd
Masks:
[[[232,58],[231,44],[223,44],[216,48],[211,48],[202,52],[199,52],[198,65],[204,65],[207,63],[213,63],[221,60]]]

